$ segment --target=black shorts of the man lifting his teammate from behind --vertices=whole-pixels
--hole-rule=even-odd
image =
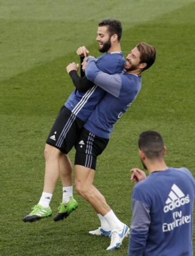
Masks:
[[[104,139],[82,128],[77,141],[75,165],[82,165],[95,170],[96,159],[108,144],[109,139]]]

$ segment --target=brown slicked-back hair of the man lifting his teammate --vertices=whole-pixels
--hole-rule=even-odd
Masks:
[[[151,67],[155,61],[156,50],[152,45],[148,45],[145,42],[140,42],[136,47],[140,52],[140,63],[147,64],[142,71],[147,70],[147,68]]]

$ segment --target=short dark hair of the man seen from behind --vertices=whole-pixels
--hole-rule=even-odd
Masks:
[[[138,146],[147,158],[153,159],[163,157],[164,155],[163,138],[158,132],[153,130],[148,130],[140,134]]]

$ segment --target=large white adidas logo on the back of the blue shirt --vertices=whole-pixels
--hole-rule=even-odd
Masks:
[[[165,203],[164,213],[168,213],[181,205],[190,203],[190,198],[189,195],[185,196],[177,185],[173,184]]]

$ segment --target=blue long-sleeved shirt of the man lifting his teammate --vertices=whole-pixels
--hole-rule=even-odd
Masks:
[[[127,111],[141,90],[141,77],[134,74],[106,74],[87,59],[86,77],[107,93],[84,124],[89,132],[109,139],[113,124]]]

